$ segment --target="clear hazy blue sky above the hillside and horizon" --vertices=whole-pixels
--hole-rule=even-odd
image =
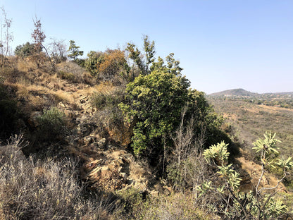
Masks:
[[[175,53],[192,88],[293,92],[292,0],[75,1],[0,0],[13,18],[13,50],[32,42],[32,18],[51,37],[74,39],[81,50],[142,47],[156,56]]]

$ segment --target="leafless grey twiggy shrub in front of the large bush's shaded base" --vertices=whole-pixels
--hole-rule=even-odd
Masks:
[[[190,188],[192,195],[197,197],[197,185],[204,182],[207,173],[206,163],[201,155],[201,148],[206,140],[206,128],[202,126],[201,133],[194,133],[194,120],[191,119],[186,125],[186,112],[187,109],[183,109],[180,126],[173,137],[173,163],[168,165],[167,171],[175,190]]]

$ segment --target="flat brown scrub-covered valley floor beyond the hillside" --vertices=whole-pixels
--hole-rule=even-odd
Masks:
[[[247,149],[266,130],[277,133],[282,141],[280,152],[293,154],[293,111],[277,106],[258,105],[242,99],[209,97],[219,114],[226,118],[225,130],[234,135]]]

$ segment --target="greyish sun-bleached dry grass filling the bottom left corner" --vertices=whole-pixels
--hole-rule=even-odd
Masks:
[[[1,219],[112,219],[109,197],[86,196],[76,159],[26,159],[19,145],[0,147]]]

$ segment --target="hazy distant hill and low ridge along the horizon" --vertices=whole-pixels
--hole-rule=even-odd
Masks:
[[[268,93],[256,93],[256,92],[249,92],[244,89],[233,89],[233,90],[224,90],[222,92],[214,92],[208,94],[213,97],[219,96],[227,96],[227,97],[261,97],[263,95],[289,95],[293,96],[293,92],[268,92]]]

